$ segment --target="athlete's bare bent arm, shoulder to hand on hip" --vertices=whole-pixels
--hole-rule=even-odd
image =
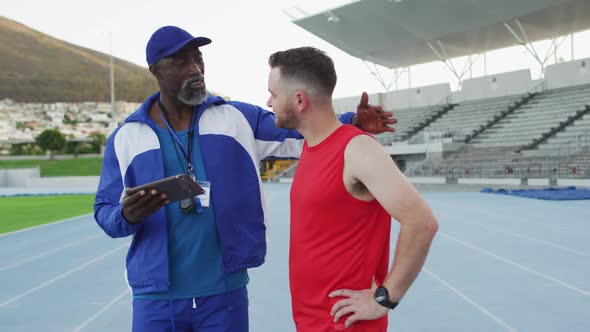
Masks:
[[[361,182],[364,193],[349,192],[364,200],[372,198],[400,223],[393,265],[383,286],[391,301],[399,301],[414,282],[424,265],[438,223],[424,199],[397,168],[383,147],[371,137],[357,136],[348,144],[344,155],[344,181]],[[342,315],[354,313],[345,323],[377,319],[387,313],[373,299],[376,286],[362,291],[336,290],[331,297],[345,296],[332,308],[335,321]]]

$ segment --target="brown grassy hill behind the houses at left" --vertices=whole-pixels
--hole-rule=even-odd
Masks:
[[[143,101],[158,90],[147,68],[114,58],[115,99]],[[110,101],[108,54],[55,39],[0,16],[0,100]]]

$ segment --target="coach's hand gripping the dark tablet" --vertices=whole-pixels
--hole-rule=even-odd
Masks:
[[[143,219],[168,204],[168,196],[157,190],[140,190],[131,196],[123,198],[123,217],[130,224],[138,224]]]

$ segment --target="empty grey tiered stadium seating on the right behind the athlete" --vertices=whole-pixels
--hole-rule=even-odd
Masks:
[[[545,87],[541,82],[522,94],[397,109],[395,133],[377,139],[383,145],[404,141],[404,148],[453,143],[426,159],[416,156],[422,152],[396,156],[408,176],[590,178],[590,85]]]

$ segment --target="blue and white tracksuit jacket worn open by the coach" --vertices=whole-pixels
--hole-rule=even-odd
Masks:
[[[127,279],[133,294],[166,292],[169,282],[165,209],[137,225],[122,215],[124,188],[164,177],[160,143],[147,121],[160,97],[150,96],[107,140],[94,204],[94,218],[111,237],[133,235],[127,253]],[[353,113],[341,116],[350,123]],[[260,160],[299,158],[303,137],[275,126],[274,113],[258,106],[208,96],[199,107],[196,133],[226,273],[257,267],[266,255],[266,226]]]

